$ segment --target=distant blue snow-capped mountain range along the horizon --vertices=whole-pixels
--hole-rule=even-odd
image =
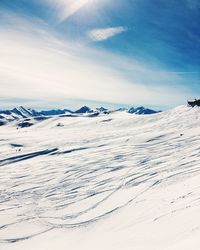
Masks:
[[[64,116],[64,117],[77,117],[77,116],[85,116],[85,117],[94,117],[100,114],[110,114],[113,112],[127,112],[130,114],[137,115],[146,115],[146,114],[155,114],[161,111],[155,111],[152,109],[148,109],[145,107],[137,107],[137,108],[121,108],[117,110],[108,110],[106,108],[96,108],[94,110],[90,109],[87,106],[83,106],[76,111],[71,111],[69,109],[51,109],[51,110],[42,110],[36,111],[30,108],[18,107],[10,110],[0,110],[0,126],[6,124],[9,121],[15,120],[24,120],[28,122],[31,118],[35,120],[44,120],[50,118],[52,116]]]

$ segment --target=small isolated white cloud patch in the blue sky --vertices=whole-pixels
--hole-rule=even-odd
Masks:
[[[104,29],[94,29],[88,32],[88,35],[90,39],[93,41],[104,41],[107,40],[113,36],[116,36],[120,33],[123,33],[127,31],[128,29],[123,26],[119,27],[110,27],[110,28],[104,28]]]

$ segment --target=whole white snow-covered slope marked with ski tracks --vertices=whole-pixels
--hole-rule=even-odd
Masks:
[[[198,250],[200,109],[0,127],[1,250]]]

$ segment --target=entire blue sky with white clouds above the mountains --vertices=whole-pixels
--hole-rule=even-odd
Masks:
[[[184,104],[199,23],[198,0],[1,0],[0,105]]]

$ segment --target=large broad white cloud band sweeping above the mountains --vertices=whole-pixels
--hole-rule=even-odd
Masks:
[[[0,26],[0,54],[0,98],[5,104],[26,99],[48,107],[81,99],[165,106],[166,100],[170,105],[180,104],[190,92],[182,88],[179,74],[70,43],[37,19],[27,22],[9,15],[9,23]]]

